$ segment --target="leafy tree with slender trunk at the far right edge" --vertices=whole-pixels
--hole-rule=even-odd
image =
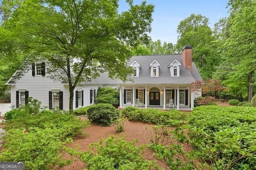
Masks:
[[[228,61],[234,72],[233,81],[248,79],[248,101],[253,95],[255,85],[254,72],[256,68],[256,2],[251,0],[230,0],[230,38],[225,42]]]

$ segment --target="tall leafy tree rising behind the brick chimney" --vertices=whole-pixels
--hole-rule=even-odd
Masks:
[[[212,78],[215,66],[219,64],[219,55],[214,48],[214,36],[208,26],[209,19],[201,14],[191,14],[180,22],[177,28],[178,41],[176,49],[187,44],[193,45],[192,59],[198,67],[203,79]]]

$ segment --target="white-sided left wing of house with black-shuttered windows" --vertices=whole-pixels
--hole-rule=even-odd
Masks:
[[[11,106],[18,108],[28,103],[28,97],[37,99],[42,107],[69,110],[69,86],[67,83],[47,77],[47,65],[31,65],[30,70],[19,79],[11,77],[7,85],[11,86]],[[14,73],[15,75],[15,73]],[[81,85],[74,89],[73,109],[86,107],[95,102],[100,85]]]

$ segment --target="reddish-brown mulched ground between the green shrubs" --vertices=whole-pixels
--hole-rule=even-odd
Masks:
[[[227,101],[225,101],[224,103],[217,101],[217,103],[218,105],[221,105],[221,106],[228,106]],[[4,119],[4,117],[0,117],[0,119]],[[80,119],[87,120],[86,117],[80,117]],[[0,125],[0,128],[2,128],[3,126],[4,125]],[[140,146],[142,144],[149,144],[150,141],[148,139],[148,136],[149,136],[150,130],[152,130],[151,128],[152,126],[153,126],[152,124],[148,124],[148,123],[126,121],[124,125],[124,135],[126,136],[126,140],[132,141],[137,139],[138,143],[136,144],[136,146]],[[168,130],[170,131],[175,130],[175,127],[168,127]],[[89,144],[98,142],[100,141],[101,138],[106,139],[111,134],[119,135],[119,133],[116,132],[114,126],[100,127],[94,123],[92,123],[90,127],[84,128],[84,132],[86,132],[88,135],[87,136],[78,135],[74,138],[73,143],[68,143],[66,144],[66,146],[74,149],[77,148],[76,146],[79,146],[80,149],[84,151],[89,149]],[[168,142],[168,144],[170,144],[170,141]],[[2,149],[3,148],[1,148],[0,151]],[[186,151],[189,151],[192,148],[188,145],[184,145],[183,149]],[[68,158],[71,158],[71,156],[67,152],[63,152],[62,158],[66,160]],[[153,157],[153,151],[148,148],[145,148],[144,158],[147,160],[156,160]],[[168,169],[160,161],[157,161],[157,163],[162,168]],[[73,157],[73,162],[67,166],[60,168],[60,170],[82,170],[84,168],[86,168],[86,164],[78,160],[78,158]]]

